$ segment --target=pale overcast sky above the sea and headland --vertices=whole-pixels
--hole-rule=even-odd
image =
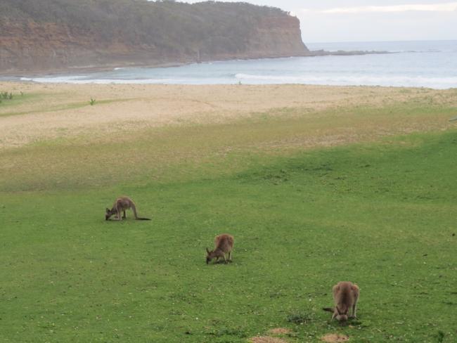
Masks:
[[[200,1],[186,0],[185,2]],[[457,1],[245,0],[245,2],[283,8],[296,15],[302,24],[302,37],[305,44],[326,41],[457,39]]]

